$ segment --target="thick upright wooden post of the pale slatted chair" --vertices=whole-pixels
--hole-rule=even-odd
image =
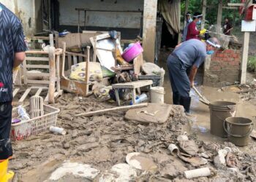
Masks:
[[[50,62],[50,83],[49,83],[49,103],[54,103],[54,92],[56,82],[56,64],[55,64],[55,48],[50,47],[49,49],[49,62]]]

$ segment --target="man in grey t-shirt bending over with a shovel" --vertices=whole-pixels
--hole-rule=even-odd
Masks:
[[[197,68],[204,62],[206,55],[212,55],[219,47],[216,38],[210,38],[206,42],[190,39],[179,44],[169,55],[167,67],[173,90],[173,104],[184,106],[186,113],[189,113],[189,92],[194,87]]]

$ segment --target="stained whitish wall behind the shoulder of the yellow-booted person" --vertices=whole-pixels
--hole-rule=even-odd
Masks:
[[[20,18],[26,36],[34,35],[34,0],[1,0],[4,6]]]

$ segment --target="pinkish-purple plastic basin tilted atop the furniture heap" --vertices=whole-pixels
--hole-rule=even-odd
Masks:
[[[126,50],[121,56],[127,62],[130,62],[134,58],[136,58],[140,53],[143,52],[143,48],[140,45],[140,41],[136,42],[132,47]]]

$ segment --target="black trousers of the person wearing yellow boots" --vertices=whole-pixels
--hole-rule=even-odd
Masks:
[[[12,103],[0,103],[0,161],[12,157],[11,124]]]

